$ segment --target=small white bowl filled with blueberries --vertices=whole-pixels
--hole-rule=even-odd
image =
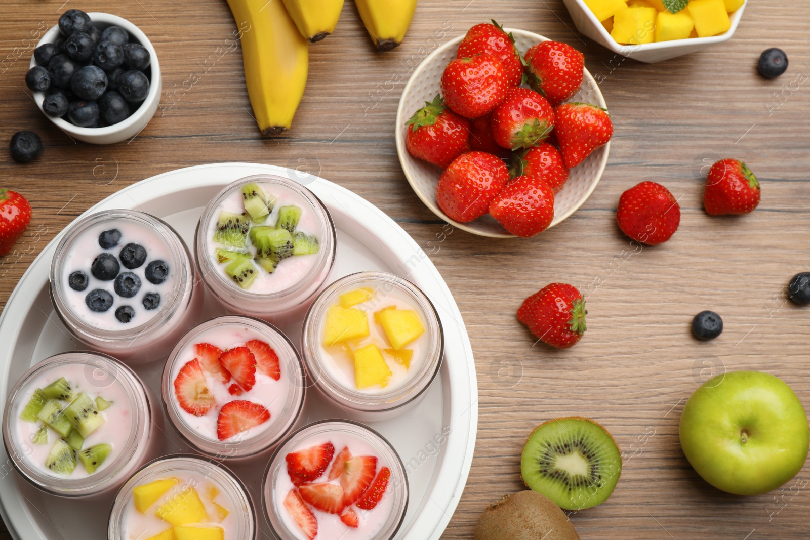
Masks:
[[[109,13],[68,10],[45,32],[25,83],[71,138],[112,144],[155,116],[162,82],[157,54],[133,23]]]

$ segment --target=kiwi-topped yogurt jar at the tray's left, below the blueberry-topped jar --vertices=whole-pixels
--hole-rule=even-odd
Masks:
[[[62,497],[109,495],[156,456],[162,417],[126,365],[69,352],[28,370],[9,393],[3,444],[32,486]]]

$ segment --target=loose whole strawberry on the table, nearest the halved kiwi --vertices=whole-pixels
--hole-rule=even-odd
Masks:
[[[551,283],[523,300],[518,321],[540,341],[565,349],[585,333],[585,300],[573,285]]]

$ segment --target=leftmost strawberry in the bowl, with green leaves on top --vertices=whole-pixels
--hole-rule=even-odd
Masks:
[[[470,151],[470,121],[445,108],[438,94],[405,125],[411,126],[405,134],[407,151],[428,163],[446,168],[458,155]]]

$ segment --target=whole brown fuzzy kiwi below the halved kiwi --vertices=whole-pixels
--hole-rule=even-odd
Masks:
[[[536,491],[518,491],[490,504],[475,525],[474,540],[579,540],[559,506]]]

